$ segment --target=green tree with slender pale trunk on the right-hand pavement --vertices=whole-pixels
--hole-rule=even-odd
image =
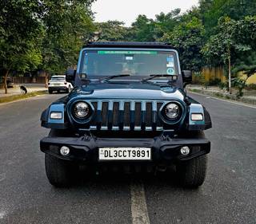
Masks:
[[[239,55],[254,48],[256,17],[247,17],[238,21],[221,18],[217,30],[218,33],[210,37],[202,49],[202,53],[209,64],[227,65],[231,93],[232,64],[235,59],[238,61]]]

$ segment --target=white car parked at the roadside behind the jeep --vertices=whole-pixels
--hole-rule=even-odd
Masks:
[[[54,91],[70,92],[72,88],[73,85],[66,81],[66,76],[52,76],[48,83],[48,91],[50,94]]]

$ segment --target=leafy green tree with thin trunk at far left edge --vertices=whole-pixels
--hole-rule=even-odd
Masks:
[[[0,3],[0,68],[4,71],[4,88],[10,72],[34,69],[41,63],[42,26],[38,22],[38,2],[10,0]]]

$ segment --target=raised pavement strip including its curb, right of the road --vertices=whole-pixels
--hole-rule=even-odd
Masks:
[[[236,93],[237,89],[232,88],[232,94],[227,92],[225,89],[218,88],[218,86],[207,86],[204,87],[198,84],[189,84],[186,87],[190,92],[200,92],[208,96],[218,96],[224,99],[236,100],[245,104],[254,104],[256,105],[256,90],[246,90],[244,89],[243,96],[238,99]]]

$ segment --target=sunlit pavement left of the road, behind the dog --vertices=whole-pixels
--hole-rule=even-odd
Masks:
[[[38,92],[45,91],[47,88],[45,84],[23,84],[26,86],[27,92]],[[5,90],[3,88],[0,89],[0,98],[6,96],[14,96],[22,94],[21,89],[19,88],[19,84],[15,84],[14,88],[8,88],[8,93],[5,94]]]

